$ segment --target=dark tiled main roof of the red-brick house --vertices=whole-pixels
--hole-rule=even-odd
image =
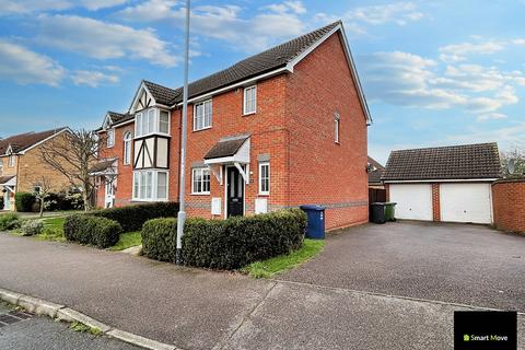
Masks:
[[[248,57],[220,72],[197,80],[188,85],[189,97],[191,98],[282,68],[339,24],[340,22],[335,22],[290,42],[272,47],[266,51]],[[153,95],[156,103],[173,105],[183,101],[182,88],[173,90],[149,81],[143,81],[143,83]]]

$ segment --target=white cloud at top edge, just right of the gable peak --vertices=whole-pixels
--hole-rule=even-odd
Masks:
[[[394,23],[402,26],[422,18],[424,18],[424,14],[418,11],[412,2],[361,7],[345,14],[345,19],[348,21],[359,21],[372,25]]]

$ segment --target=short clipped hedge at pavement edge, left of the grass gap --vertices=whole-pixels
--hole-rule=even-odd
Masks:
[[[63,235],[68,241],[108,248],[117,244],[122,226],[113,220],[85,214],[73,214],[63,222]]]

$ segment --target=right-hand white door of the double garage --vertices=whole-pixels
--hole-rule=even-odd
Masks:
[[[492,223],[490,184],[442,184],[441,221]]]

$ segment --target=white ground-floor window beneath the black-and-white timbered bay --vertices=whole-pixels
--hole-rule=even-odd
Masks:
[[[167,200],[167,172],[137,171],[133,172],[133,200],[165,201]]]

